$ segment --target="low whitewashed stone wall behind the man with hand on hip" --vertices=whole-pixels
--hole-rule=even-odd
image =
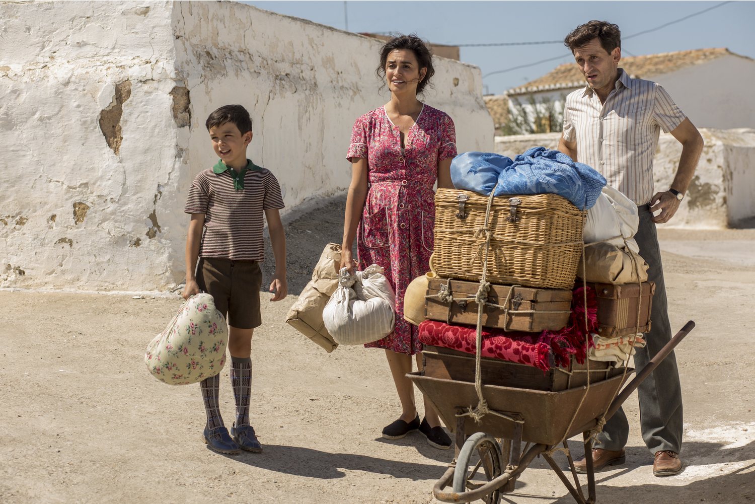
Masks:
[[[735,227],[755,218],[755,130],[701,129],[705,141],[695,177],[666,227]],[[558,147],[560,133],[495,137],[496,153],[513,158],[530,147]],[[655,153],[656,190],[667,189],[682,153],[673,136],[661,133]]]

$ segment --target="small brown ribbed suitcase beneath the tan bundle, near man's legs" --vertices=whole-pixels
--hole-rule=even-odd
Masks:
[[[648,332],[655,283],[588,283],[598,297],[598,334],[604,338]],[[642,299],[639,298],[640,287]],[[639,320],[637,305],[639,303]],[[638,327],[639,326],[639,327]]]

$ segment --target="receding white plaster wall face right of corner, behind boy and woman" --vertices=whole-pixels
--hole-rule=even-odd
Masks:
[[[174,24],[194,111],[193,174],[216,162],[206,117],[239,103],[254,122],[248,153],[275,173],[288,207],[348,186],[353,122],[390,98],[374,74],[382,42],[230,2],[177,2]],[[455,119],[459,150],[492,148],[479,69],[445,58],[437,66],[427,103]]]

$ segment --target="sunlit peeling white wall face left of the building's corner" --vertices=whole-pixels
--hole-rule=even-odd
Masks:
[[[178,166],[170,8],[0,3],[0,286],[168,283],[145,234]]]

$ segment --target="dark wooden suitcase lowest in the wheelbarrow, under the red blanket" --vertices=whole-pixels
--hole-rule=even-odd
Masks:
[[[422,351],[424,376],[474,382],[475,356],[465,352],[425,345]],[[555,368],[543,373],[541,369],[506,360],[482,357],[480,363],[482,383],[503,387],[529,388],[557,392],[587,385],[587,361],[578,364],[572,360],[568,369]],[[590,383],[621,374],[607,362],[590,360]]]

